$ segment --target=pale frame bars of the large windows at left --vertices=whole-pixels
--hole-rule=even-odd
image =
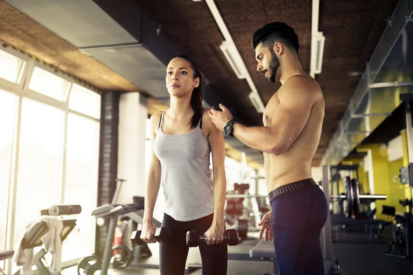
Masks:
[[[3,41],[0,41],[0,44],[2,44]],[[64,192],[65,192],[65,181],[66,181],[66,164],[67,164],[67,153],[66,153],[66,146],[67,146],[67,122],[68,122],[68,117],[69,113],[73,113],[75,115],[79,115],[83,118],[87,118],[88,120],[93,120],[95,122],[98,122],[98,131],[100,131],[101,127],[101,119],[100,118],[94,118],[90,115],[86,115],[84,113],[74,111],[69,109],[69,101],[70,101],[70,92],[72,91],[72,87],[74,83],[76,85],[79,85],[81,87],[84,87],[85,89],[88,89],[89,91],[92,91],[96,94],[98,94],[100,97],[102,96],[102,93],[94,88],[94,87],[86,87],[84,83],[80,83],[76,78],[69,76],[67,74],[64,74],[63,72],[56,70],[54,67],[50,67],[49,65],[45,65],[35,59],[33,59],[31,56],[28,54],[25,54],[23,52],[20,52],[19,50],[15,50],[12,46],[7,45],[6,47],[1,47],[0,50],[3,50],[4,52],[7,52],[8,54],[12,54],[13,56],[16,56],[17,58],[20,58],[21,60],[25,61],[25,65],[23,68],[23,72],[21,72],[19,75],[20,78],[20,83],[12,83],[4,78],[0,78],[0,89],[10,92],[11,94],[17,95],[17,109],[16,113],[14,113],[15,117],[15,124],[14,124],[14,132],[13,132],[13,143],[12,143],[12,160],[11,160],[11,174],[10,174],[10,181],[8,184],[8,192],[9,192],[9,197],[8,197],[8,214],[7,214],[7,220],[6,220],[6,247],[12,248],[15,243],[16,236],[14,236],[14,225],[15,225],[15,214],[16,214],[16,201],[17,201],[17,177],[19,173],[19,151],[20,151],[20,136],[21,136],[21,111],[22,111],[22,105],[23,105],[23,98],[28,98],[30,100],[34,100],[36,102],[40,102],[46,105],[49,105],[51,107],[56,107],[57,109],[61,109],[65,112],[65,119],[64,119],[64,132],[63,132],[63,160],[62,160],[62,181],[59,186],[59,201],[63,203],[64,199]],[[34,67],[39,67],[41,69],[44,69],[46,72],[50,72],[56,76],[59,76],[65,80],[68,81],[67,85],[67,92],[65,94],[65,100],[60,101],[56,100],[54,98],[50,98],[49,96],[45,96],[44,94],[40,94],[39,92],[32,91],[29,89],[29,84],[30,80],[33,76],[34,72]],[[96,140],[97,144],[96,146],[100,146],[100,137],[98,140]],[[96,161],[98,162],[98,157],[99,157],[99,152],[96,158]],[[97,205],[97,201],[96,201]],[[96,230],[92,231],[92,239],[94,239],[96,236]],[[94,245],[94,242],[92,242]],[[71,261],[62,263],[63,267],[67,267],[72,265],[72,263],[76,263],[78,259],[73,259]],[[11,272],[11,266],[10,266],[10,261],[6,261],[6,272]]]

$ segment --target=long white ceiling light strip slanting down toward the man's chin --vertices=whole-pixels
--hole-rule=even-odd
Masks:
[[[215,19],[215,22],[218,24],[218,28],[220,28],[222,32],[222,36],[224,36],[224,42],[226,44],[227,49],[229,49],[229,52],[231,52],[233,63],[237,65],[240,74],[242,74],[242,78],[245,78],[246,82],[248,83],[251,89],[251,94],[248,95],[251,102],[253,103],[255,109],[257,109],[257,112],[264,113],[265,106],[262,102],[261,96],[258,93],[257,88],[255,87],[255,84],[248,72],[248,69],[246,69],[245,63],[242,60],[240,52],[238,52],[238,49],[235,46],[235,43],[232,39],[231,34],[229,33],[228,28],[226,28],[224,20],[221,17],[220,11],[218,10],[213,0],[205,0],[205,2],[207,2],[209,10],[211,10],[213,18]],[[240,76],[238,76],[238,78],[240,78]]]

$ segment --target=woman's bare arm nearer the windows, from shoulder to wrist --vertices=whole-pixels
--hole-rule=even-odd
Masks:
[[[155,208],[156,199],[160,188],[160,162],[153,152],[153,142],[155,141],[155,131],[158,129],[161,113],[151,115],[151,164],[149,166],[149,175],[145,190],[145,212],[143,215],[144,223],[153,222],[153,208]]]

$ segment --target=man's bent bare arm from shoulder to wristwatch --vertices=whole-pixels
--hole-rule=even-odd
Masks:
[[[303,131],[316,100],[315,85],[301,76],[284,84],[271,126],[233,125],[233,135],[257,151],[279,155],[290,148]],[[310,87],[309,87],[310,86]]]

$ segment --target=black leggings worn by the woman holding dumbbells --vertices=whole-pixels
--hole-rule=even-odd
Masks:
[[[203,235],[212,224],[213,214],[193,221],[176,221],[171,216],[164,214],[162,228],[170,228],[171,241],[160,243],[159,259],[160,274],[183,275],[189,247],[187,245],[187,232],[196,229]],[[226,274],[228,248],[225,242],[218,245],[207,245],[201,241],[200,252],[202,258],[203,275]]]

